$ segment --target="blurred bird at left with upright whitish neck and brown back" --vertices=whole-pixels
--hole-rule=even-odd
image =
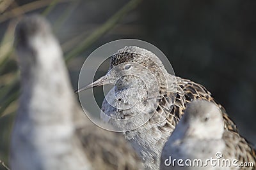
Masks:
[[[77,106],[57,39],[39,16],[15,30],[22,92],[13,126],[12,170],[141,169],[123,136],[104,131]]]

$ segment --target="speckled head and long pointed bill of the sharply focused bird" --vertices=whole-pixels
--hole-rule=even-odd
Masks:
[[[167,84],[166,74],[161,60],[154,53],[137,46],[125,46],[111,56],[108,73],[76,92],[106,84],[123,89],[146,85],[156,91]]]

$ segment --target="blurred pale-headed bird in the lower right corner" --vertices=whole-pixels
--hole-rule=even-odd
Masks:
[[[213,166],[207,159],[218,161],[230,160],[227,163],[220,163],[220,166]],[[173,164],[173,160],[176,162]],[[179,166],[177,160],[182,159]],[[202,160],[199,166],[189,165],[184,162],[189,159]],[[232,165],[234,159],[238,166],[241,162],[253,163],[253,167],[236,167]],[[207,166],[206,166],[207,165]],[[223,166],[221,166],[223,165]],[[202,167],[200,167],[202,166]],[[220,108],[216,104],[208,101],[193,101],[188,104],[184,116],[174,129],[172,136],[164,145],[161,155],[161,170],[164,169],[255,169],[255,150],[246,139],[237,132],[227,131],[223,127],[223,117]]]

